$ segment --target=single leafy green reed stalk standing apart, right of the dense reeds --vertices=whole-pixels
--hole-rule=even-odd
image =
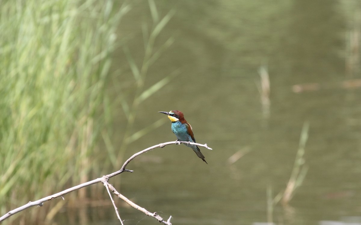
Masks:
[[[135,60],[133,59],[130,50],[126,46],[123,48],[132,75],[134,77],[135,93],[134,93],[134,98],[130,103],[127,103],[124,100],[124,98],[122,100],[122,108],[127,117],[127,125],[125,128],[125,133],[123,135],[121,146],[118,150],[118,154],[115,154],[115,152],[113,153],[114,156],[116,155],[117,158],[117,161],[114,162],[114,166],[120,164],[121,160],[123,159],[125,150],[130,143],[139,139],[141,136],[143,136],[150,130],[155,129],[164,123],[164,120],[161,119],[155,121],[153,124],[149,125],[148,127],[140,131],[134,132],[132,130],[136,118],[136,112],[138,111],[139,105],[144,100],[149,98],[152,94],[154,94],[156,91],[158,91],[163,86],[168,84],[171,81],[171,79],[177,76],[179,73],[179,71],[174,71],[170,75],[165,76],[160,81],[151,85],[148,89],[144,89],[145,78],[148,74],[149,67],[152,66],[152,64],[160,57],[161,53],[173,43],[173,38],[170,37],[167,41],[165,41],[165,43],[160,48],[158,49],[155,48],[156,38],[158,37],[160,32],[164,29],[166,24],[170,21],[171,17],[174,14],[174,11],[171,10],[163,18],[160,19],[155,2],[153,0],[148,0],[148,3],[151,11],[153,26],[149,33],[147,24],[143,23],[142,31],[143,31],[143,40],[144,40],[144,58],[142,65],[138,66],[135,63]],[[121,90],[119,90],[119,95],[121,96],[124,95],[123,93],[121,93]]]

